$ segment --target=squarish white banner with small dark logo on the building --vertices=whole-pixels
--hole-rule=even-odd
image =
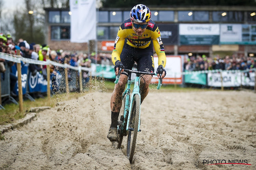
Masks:
[[[221,24],[221,43],[242,42],[242,24]]]

